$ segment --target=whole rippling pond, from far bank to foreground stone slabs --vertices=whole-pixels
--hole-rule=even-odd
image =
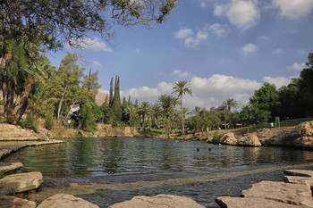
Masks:
[[[60,192],[72,182],[103,184],[92,193],[80,190],[77,194],[100,207],[132,196],[157,194],[188,196],[206,207],[218,207],[214,202],[217,196],[239,196],[242,189],[261,180],[282,181],[284,169],[310,169],[313,152],[273,146],[216,146],[199,141],[106,137],[30,146],[3,162],[22,162],[21,171],[42,172],[46,180],[61,188]],[[137,182],[140,186],[134,186]]]

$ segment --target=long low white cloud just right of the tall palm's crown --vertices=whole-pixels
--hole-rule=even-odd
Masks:
[[[236,93],[253,92],[262,84],[255,80],[234,78],[223,74],[214,74],[210,78],[194,77],[190,87],[196,95],[231,96]]]

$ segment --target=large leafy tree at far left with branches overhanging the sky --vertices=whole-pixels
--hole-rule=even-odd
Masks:
[[[175,0],[0,1],[0,73],[7,102],[6,120],[16,124],[25,111],[30,88],[41,74],[40,47],[56,50],[63,43],[80,46],[89,31],[107,39],[112,36],[115,23],[151,27],[155,22],[165,21],[175,4]],[[30,76],[17,81],[13,71],[19,71],[19,78]],[[20,97],[14,97],[17,88]],[[13,104],[17,98],[21,98],[20,104]],[[17,106],[19,109],[14,109]]]

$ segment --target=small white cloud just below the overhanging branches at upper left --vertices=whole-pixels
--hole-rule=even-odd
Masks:
[[[80,46],[85,49],[90,50],[101,50],[106,52],[112,52],[112,49],[108,46],[106,46],[106,43],[101,41],[99,38],[95,37],[93,39],[85,38],[85,39],[78,39],[78,40],[72,40],[73,46]],[[70,48],[70,46],[67,44],[67,48]]]

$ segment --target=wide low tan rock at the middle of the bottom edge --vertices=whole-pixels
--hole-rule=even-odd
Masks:
[[[190,198],[184,196],[158,195],[153,197],[135,196],[129,201],[117,203],[109,208],[204,208]]]

